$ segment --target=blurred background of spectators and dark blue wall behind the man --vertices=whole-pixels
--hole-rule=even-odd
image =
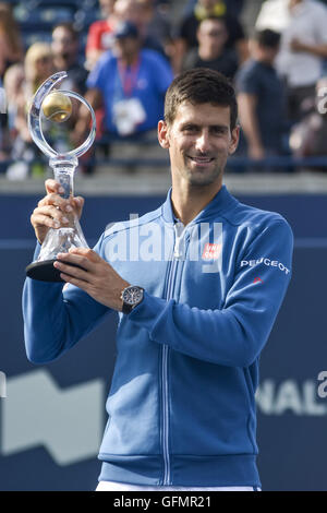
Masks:
[[[62,88],[95,108],[96,142],[75,176],[92,247],[108,223],[165,200],[169,162],[156,126],[171,80],[194,67],[222,72],[237,88],[242,136],[225,183],[240,201],[282,214],[295,238],[293,279],[261,361],[263,489],[327,490],[326,4],[0,2],[0,490],[96,488],[116,357],[112,317],[58,361],[26,359],[21,294],[35,247],[29,216],[52,176],[28,132],[28,103],[44,80],[65,70]],[[125,116],[117,105],[131,99],[137,112]],[[88,126],[78,108],[64,123],[44,120],[58,152],[85,139]]]

